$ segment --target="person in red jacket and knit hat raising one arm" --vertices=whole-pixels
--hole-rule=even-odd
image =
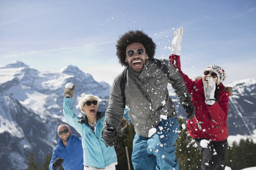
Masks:
[[[232,88],[223,86],[222,81],[225,80],[226,74],[224,69],[216,65],[208,66],[203,72],[203,77],[194,81],[182,72],[182,35],[182,27],[174,32],[172,55],[169,60],[180,70],[187,90],[193,97],[191,100],[194,102],[196,114],[193,119],[187,119],[187,129],[202,154],[200,169],[225,169],[228,98]]]

